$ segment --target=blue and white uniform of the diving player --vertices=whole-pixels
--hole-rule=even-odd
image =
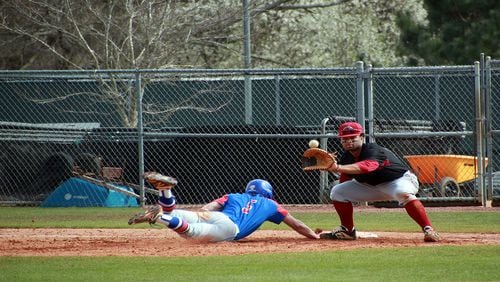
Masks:
[[[250,185],[246,193],[226,194],[214,200],[218,211],[198,212],[175,209],[175,197],[170,191],[162,192],[158,203],[163,215],[158,221],[182,237],[211,242],[243,239],[266,221],[280,224],[288,211],[272,199],[271,186],[258,186],[258,191],[253,188]]]

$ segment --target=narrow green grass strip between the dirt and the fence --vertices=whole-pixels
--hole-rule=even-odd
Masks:
[[[149,228],[147,224],[127,225],[128,218],[140,208],[34,208],[0,207],[0,228]],[[332,212],[293,213],[311,227],[330,229],[338,225]],[[429,212],[429,217],[441,232],[500,233],[500,212]],[[355,212],[360,231],[415,232],[417,225],[405,213]],[[264,229],[288,229],[285,224],[265,223]]]

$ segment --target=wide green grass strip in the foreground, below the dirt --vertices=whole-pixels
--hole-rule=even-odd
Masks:
[[[0,257],[2,281],[498,281],[500,246],[220,257]]]

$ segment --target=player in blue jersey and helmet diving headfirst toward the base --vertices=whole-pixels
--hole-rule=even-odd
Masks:
[[[273,200],[273,187],[265,180],[254,179],[247,184],[245,193],[226,194],[194,212],[175,208],[171,191],[177,184],[174,178],[147,172],[144,179],[160,191],[158,205],[136,214],[129,224],[161,223],[184,238],[219,242],[243,239],[265,221],[284,222],[307,238],[319,239],[318,234]]]

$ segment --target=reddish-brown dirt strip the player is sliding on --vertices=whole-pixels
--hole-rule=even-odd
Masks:
[[[379,237],[329,241],[306,239],[288,230],[263,230],[239,242],[201,243],[182,239],[168,229],[0,229],[0,256],[210,256],[435,245],[500,245],[500,234],[441,233],[442,242],[424,243],[419,232],[374,233]]]

